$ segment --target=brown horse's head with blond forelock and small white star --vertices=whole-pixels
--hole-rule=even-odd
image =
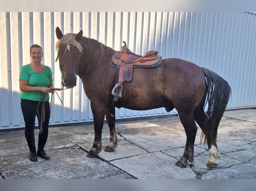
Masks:
[[[82,35],[82,30],[78,34],[63,35],[60,29],[56,28],[56,36],[59,39],[56,43],[57,59],[62,74],[62,85],[66,88],[74,88],[77,85],[80,58],[83,54],[83,48],[79,43]]]

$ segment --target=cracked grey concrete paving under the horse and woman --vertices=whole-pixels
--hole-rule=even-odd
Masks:
[[[209,153],[195,142],[195,162],[174,165],[183,154],[185,132],[177,116],[117,122],[119,144],[98,158],[87,158],[93,125],[49,128],[49,160],[30,162],[24,130],[0,132],[0,179],[255,179],[256,109],[228,110],[218,130],[219,165],[207,168]],[[38,134],[38,129],[35,130]],[[103,149],[109,138],[103,128]],[[36,136],[37,139],[37,136]]]

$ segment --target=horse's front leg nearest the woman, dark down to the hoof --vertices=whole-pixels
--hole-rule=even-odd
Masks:
[[[101,135],[104,123],[105,108],[99,105],[93,105],[91,102],[91,108],[93,113],[93,123],[94,123],[94,142],[92,148],[88,151],[87,157],[94,158],[97,157],[101,151]]]

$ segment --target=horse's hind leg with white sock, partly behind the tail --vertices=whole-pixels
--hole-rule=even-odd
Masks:
[[[205,95],[206,96],[206,95]],[[202,99],[205,100],[205,99]],[[201,127],[203,133],[205,134],[205,124],[208,120],[205,112],[204,112],[204,101],[201,101],[200,104],[196,107],[194,111],[194,118],[198,125]],[[217,134],[217,132],[215,133]],[[203,136],[203,134],[202,134]],[[203,137],[201,137],[203,138]],[[212,134],[206,135],[207,139],[207,145],[208,145],[208,150],[209,150],[209,161],[207,163],[207,167],[216,167],[219,163],[216,159],[220,159],[221,155],[219,152],[219,149],[217,147],[216,143],[216,136]]]

